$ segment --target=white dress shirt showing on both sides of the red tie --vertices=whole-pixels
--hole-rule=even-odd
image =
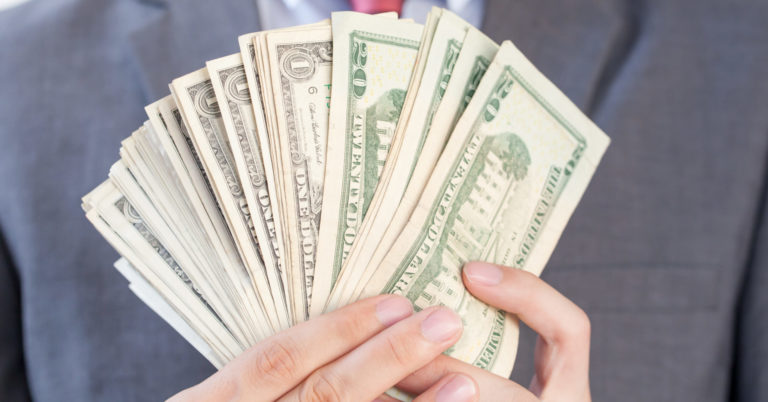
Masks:
[[[333,11],[349,10],[347,0],[256,0],[262,29],[303,25],[330,18]],[[475,27],[480,27],[485,0],[405,0],[402,18],[424,23],[432,6],[443,7],[458,14]]]

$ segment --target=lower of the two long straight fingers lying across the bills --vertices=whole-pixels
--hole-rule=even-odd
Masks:
[[[425,309],[315,371],[281,400],[372,400],[456,343],[461,331],[456,313]]]

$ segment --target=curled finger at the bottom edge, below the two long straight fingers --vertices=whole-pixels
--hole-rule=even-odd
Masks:
[[[404,378],[397,383],[397,388],[409,394],[421,394],[451,374],[472,378],[477,384],[481,401],[538,401],[530,391],[515,382],[445,355],[438,356]]]

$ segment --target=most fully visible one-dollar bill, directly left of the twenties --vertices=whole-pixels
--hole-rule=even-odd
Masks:
[[[308,317],[321,219],[333,43],[330,27],[266,36],[281,162],[293,317]]]

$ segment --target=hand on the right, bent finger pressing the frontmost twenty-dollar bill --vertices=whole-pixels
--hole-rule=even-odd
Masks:
[[[442,355],[401,381],[398,388],[411,394],[424,393],[416,399],[419,402],[442,402],[439,395],[443,385],[454,390],[464,387],[465,399],[451,401],[591,401],[590,324],[583,310],[546,282],[519,269],[472,262],[464,266],[463,279],[475,297],[516,314],[539,334],[536,374],[529,390]],[[427,393],[432,396],[425,397]]]

